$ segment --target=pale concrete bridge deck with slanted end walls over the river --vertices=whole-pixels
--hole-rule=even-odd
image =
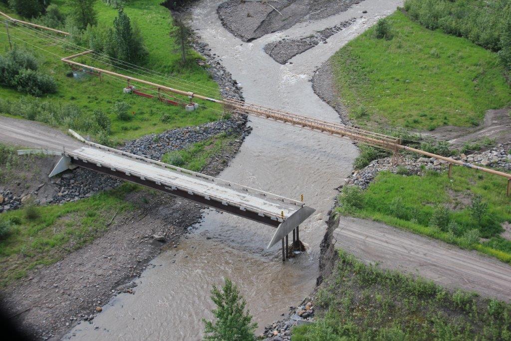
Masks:
[[[119,177],[277,227],[272,246],[314,210],[303,202],[230,183],[91,142],[63,157],[50,176],[77,166]]]

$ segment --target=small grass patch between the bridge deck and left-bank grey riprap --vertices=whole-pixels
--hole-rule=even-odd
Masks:
[[[221,133],[214,138],[195,143],[188,148],[165,153],[161,161],[173,166],[198,172],[207,164],[208,160],[210,160],[213,155],[225,150],[225,148],[237,138],[238,135]]]

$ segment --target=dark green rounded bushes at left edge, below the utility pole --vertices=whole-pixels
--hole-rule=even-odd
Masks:
[[[0,56],[0,84],[38,97],[55,93],[57,84],[53,77],[37,72],[37,68],[37,61],[31,53],[14,49]]]

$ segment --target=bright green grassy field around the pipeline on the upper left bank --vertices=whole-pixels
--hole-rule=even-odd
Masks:
[[[142,66],[157,72],[170,74],[173,77],[197,82],[202,86],[213,87],[213,92],[218,95],[218,85],[202,67],[193,61],[185,67],[181,67],[178,64],[180,55],[175,52],[175,41],[169,36],[172,28],[172,17],[166,8],[159,5],[160,2],[160,0],[133,0],[128,2],[125,7],[125,12],[140,27],[149,51],[148,60]],[[54,3],[59,5],[59,9],[62,12],[68,11],[63,0],[55,0]],[[101,1],[96,2],[96,8],[99,13],[99,24],[110,27],[113,18],[117,15],[117,10],[106,6]],[[5,4],[0,4],[0,10],[16,16],[10,9],[6,8]],[[149,133],[159,133],[177,127],[215,121],[221,115],[218,111],[221,109],[220,106],[212,102],[198,101],[199,104],[207,105],[209,108],[200,107],[197,111],[186,112],[182,107],[165,105],[157,100],[150,100],[135,95],[125,95],[122,89],[126,86],[126,82],[108,76],[104,76],[103,81],[100,81],[95,76],[89,76],[82,81],[68,78],[65,74],[69,71],[69,66],[62,63],[60,57],[69,56],[75,53],[74,51],[67,51],[54,43],[43,41],[16,28],[11,28],[10,32],[14,37],[13,42],[18,47],[29,49],[36,54],[40,62],[40,71],[52,74],[57,81],[58,92],[44,97],[42,100],[63,105],[74,104],[85,113],[90,113],[96,108],[104,110],[112,120],[111,137],[117,142],[135,139]],[[16,38],[20,38],[28,43]],[[55,55],[41,51],[30,44],[48,50]],[[7,36],[0,34],[0,53],[7,51],[8,46]],[[192,52],[192,55],[191,59],[199,58],[194,52]],[[89,58],[82,57],[77,59],[77,61],[80,60],[95,64]],[[95,66],[99,65],[104,69],[114,70],[112,67],[106,67],[96,62]],[[117,71],[126,73],[122,70]],[[133,77],[154,81],[147,76],[138,76],[132,72],[129,74]],[[183,86],[182,84],[170,84],[168,82],[166,85],[174,87]],[[199,91],[195,89],[195,92]],[[0,97],[2,98],[17,99],[21,96],[23,95],[15,89],[0,86]],[[188,100],[185,97],[183,99]],[[121,121],[111,112],[110,108],[116,101],[125,101],[131,105],[130,113],[132,114],[132,119],[130,121]],[[163,114],[169,115],[170,119],[162,122],[160,117]]]

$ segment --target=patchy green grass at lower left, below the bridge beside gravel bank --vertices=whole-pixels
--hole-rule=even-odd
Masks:
[[[9,234],[0,240],[0,286],[25,277],[38,266],[55,263],[100,236],[118,210],[132,208],[125,196],[135,189],[135,185],[124,184],[86,199],[24,206],[0,215],[0,224],[10,225]]]

